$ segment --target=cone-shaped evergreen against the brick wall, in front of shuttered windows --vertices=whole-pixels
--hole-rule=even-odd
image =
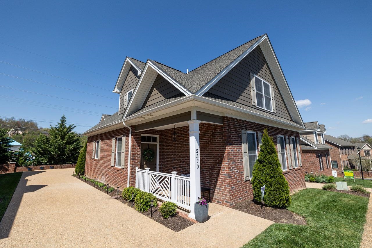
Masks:
[[[286,208],[291,204],[289,185],[278,159],[275,144],[265,128],[260,153],[253,166],[253,197],[261,201],[261,187],[265,185],[264,203],[267,206]]]

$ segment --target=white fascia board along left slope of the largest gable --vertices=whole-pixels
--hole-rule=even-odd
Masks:
[[[258,41],[254,42],[253,45],[251,45],[244,53],[242,53],[239,57],[235,58],[234,61],[232,61],[227,67],[225,67],[222,71],[220,71],[214,78],[212,78],[206,85],[204,85],[201,89],[199,89],[195,95],[202,96],[205,92],[207,92],[209,89],[211,89],[222,77],[224,77],[234,66],[236,66],[241,60],[243,60],[244,57],[246,57],[251,51],[256,48],[261,41],[263,41],[267,35],[265,34],[263,37],[261,37]]]

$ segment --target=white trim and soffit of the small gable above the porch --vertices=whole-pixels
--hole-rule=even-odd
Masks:
[[[146,93],[144,94],[145,96],[141,98],[141,102],[139,102],[140,104],[137,105],[136,109],[133,110],[132,108],[132,103],[133,101],[135,101],[136,97],[137,97],[137,92],[138,92],[138,89],[140,89],[141,85],[142,85],[142,81],[144,80],[144,75],[147,74],[147,71],[149,69],[149,67],[151,69],[153,69],[156,73],[154,74],[153,76],[153,79],[152,79],[152,82],[149,83],[148,85],[148,88],[146,89]],[[155,66],[153,63],[151,63],[150,60],[147,60],[146,62],[146,65],[145,65],[145,68],[141,74],[141,77],[140,77],[140,80],[138,81],[137,83],[137,86],[134,90],[134,93],[131,97],[131,100],[129,101],[126,109],[125,109],[125,113],[124,113],[124,118],[128,115],[128,112],[129,112],[129,109],[131,109],[132,113],[137,111],[138,109],[141,108],[141,106],[143,105],[145,99],[146,99],[146,96],[148,95],[148,92],[150,91],[151,87],[153,86],[153,83],[157,77],[157,74],[160,74],[162,77],[164,77],[168,82],[170,82],[174,87],[176,87],[177,89],[179,89],[182,93],[184,93],[186,96],[190,96],[192,95],[192,93],[190,93],[186,88],[184,88],[182,85],[180,85],[178,82],[176,82],[175,80],[173,80],[170,76],[168,76],[166,73],[164,73],[163,70],[161,70],[160,68],[158,68],[157,66]]]

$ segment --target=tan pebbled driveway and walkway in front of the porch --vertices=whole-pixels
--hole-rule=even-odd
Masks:
[[[0,223],[0,247],[240,247],[273,223],[211,203],[207,222],[174,232],[72,172],[23,172]]]

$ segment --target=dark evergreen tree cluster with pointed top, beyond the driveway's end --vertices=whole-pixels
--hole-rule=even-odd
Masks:
[[[58,165],[76,163],[82,147],[80,135],[73,130],[76,126],[66,125],[66,117],[62,115],[60,121],[49,131],[49,137],[40,134],[31,149],[36,165]]]

